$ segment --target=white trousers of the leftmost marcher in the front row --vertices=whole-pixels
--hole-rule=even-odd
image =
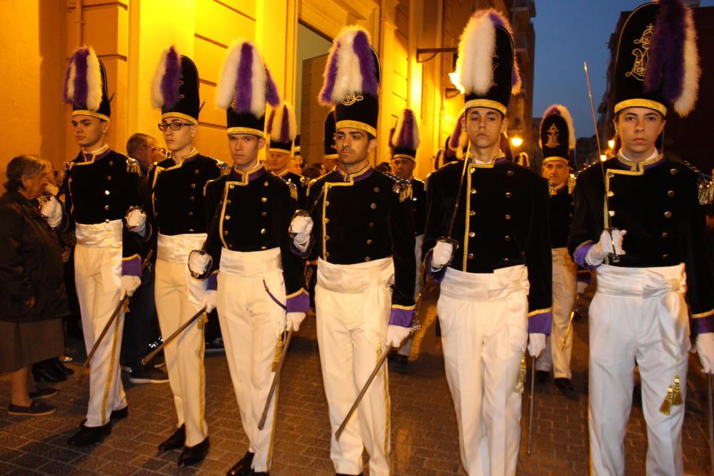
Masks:
[[[121,220],[96,225],[76,224],[74,282],[87,352],[119,304],[121,290]],[[124,309],[109,327],[89,365],[88,427],[109,423],[112,410],[126,407],[121,385],[121,334]]]

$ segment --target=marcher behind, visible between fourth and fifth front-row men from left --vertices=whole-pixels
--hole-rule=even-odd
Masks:
[[[414,283],[414,298],[421,291],[423,275],[421,273],[421,248],[424,242],[424,226],[426,226],[426,184],[414,177],[416,167],[416,149],[419,147],[419,124],[414,111],[404,109],[397,119],[389,139],[391,149],[392,172],[401,180],[411,183],[411,210],[414,218],[414,256],[416,258],[416,281]],[[413,334],[396,353],[396,363],[406,365],[411,352]]]

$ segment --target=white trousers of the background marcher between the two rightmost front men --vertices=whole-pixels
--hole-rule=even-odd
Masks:
[[[570,355],[573,354],[573,328],[563,347],[563,338],[570,322],[570,311],[575,304],[575,277],[578,265],[573,263],[568,248],[553,248],[553,327],[546,340],[545,349],[535,360],[536,370],[550,372],[553,364],[555,378],[573,378]]]

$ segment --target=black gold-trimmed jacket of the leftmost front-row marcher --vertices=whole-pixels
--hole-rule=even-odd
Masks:
[[[139,162],[106,148],[96,154],[80,152],[69,163],[68,192],[65,208],[69,227],[74,223],[96,223],[124,220],[131,206],[141,205]],[[134,233],[124,227],[122,256],[139,256]]]

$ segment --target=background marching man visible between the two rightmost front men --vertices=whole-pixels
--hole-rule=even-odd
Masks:
[[[573,373],[570,355],[573,353],[573,329],[568,331],[570,310],[575,303],[575,277],[578,266],[568,254],[568,232],[573,220],[573,192],[570,173],[573,171],[575,129],[573,118],[565,106],[553,104],[540,121],[540,148],[543,151],[543,177],[550,189],[550,245],[553,247],[553,326],[545,350],[535,362],[536,379],[544,382],[553,368],[555,386],[564,395],[573,394]],[[565,334],[568,334],[565,338]],[[565,343],[563,343],[565,339]]]

